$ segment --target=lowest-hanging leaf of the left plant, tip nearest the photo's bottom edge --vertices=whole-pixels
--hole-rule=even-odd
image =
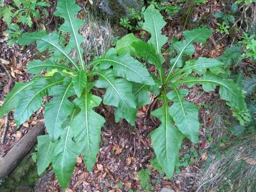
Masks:
[[[70,116],[70,121],[74,119],[77,109],[74,109]],[[71,127],[71,122],[63,126],[60,139],[54,143],[54,150],[52,154],[52,166],[53,171],[57,175],[60,186],[65,189],[69,183],[71,175],[76,165],[76,158],[80,154],[80,148],[78,143],[73,141],[75,136],[74,130],[77,127]]]

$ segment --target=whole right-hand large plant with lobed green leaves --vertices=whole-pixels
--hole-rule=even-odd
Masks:
[[[145,22],[142,29],[151,35],[148,42],[128,34],[117,42],[116,51],[118,54],[128,52],[155,65],[157,69],[158,78],[155,82],[159,89],[153,89],[153,93],[158,94],[162,107],[154,110],[151,115],[157,117],[161,125],[150,133],[150,137],[159,164],[167,176],[172,177],[174,167],[179,161],[179,149],[183,138],[187,137],[197,143],[199,133],[198,107],[184,99],[188,90],[180,89],[180,85],[188,87],[202,85],[205,92],[214,91],[218,86],[220,98],[233,103],[238,111],[246,111],[246,105],[239,87],[229,79],[218,76],[224,71],[222,68],[224,63],[205,57],[186,60],[195,51],[193,43],[206,43],[212,29],[198,28],[184,31],[183,40],[173,44],[177,56],[171,59],[171,67],[166,71],[163,68],[164,58],[161,54],[162,46],[167,42],[167,37],[161,34],[166,22],[152,5],[143,14]],[[150,86],[133,83],[137,107],[149,103],[148,91],[152,91]]]

